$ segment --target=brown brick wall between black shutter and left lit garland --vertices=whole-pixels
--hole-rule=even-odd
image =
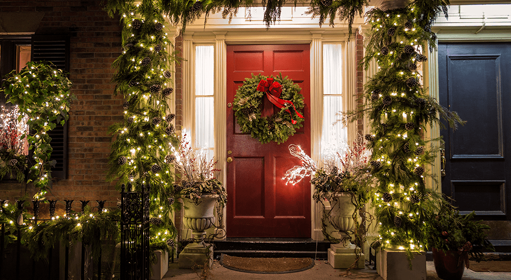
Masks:
[[[96,1],[3,1],[0,12],[45,12],[36,34],[71,34],[70,76],[78,101],[72,104],[68,130],[68,177],[54,183],[49,199],[107,200],[115,206],[119,192],[106,182],[111,136],[108,127],[122,120],[122,95],[113,96],[112,62],[121,52],[119,18],[110,18]],[[20,16],[20,20],[22,20]],[[0,184],[2,199],[17,199],[35,190]]]

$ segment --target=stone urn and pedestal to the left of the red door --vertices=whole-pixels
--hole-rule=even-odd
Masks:
[[[179,268],[192,268],[213,262],[213,248],[204,243],[206,230],[215,223],[215,203],[219,196],[204,194],[195,204],[191,199],[183,198],[183,224],[192,230],[193,243],[188,244],[179,254]]]

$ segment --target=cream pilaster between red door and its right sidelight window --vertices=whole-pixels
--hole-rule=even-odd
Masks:
[[[321,153],[321,129],[323,123],[323,46],[322,33],[324,31],[311,31],[311,158],[319,162]],[[307,178],[308,179],[308,178]],[[322,206],[312,199],[314,186],[311,186],[311,218],[312,239],[323,240],[321,232]]]

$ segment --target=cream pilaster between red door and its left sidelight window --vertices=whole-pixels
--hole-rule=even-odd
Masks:
[[[227,158],[227,48],[225,34],[227,32],[215,33],[215,158],[218,160],[217,168],[221,171],[217,175],[222,182],[227,181],[225,172]],[[227,187],[227,186],[225,186]],[[232,198],[230,201],[233,201]],[[229,203],[229,202],[227,202]],[[225,225],[227,210],[223,209],[223,223]],[[218,225],[218,218],[217,218]],[[225,225],[226,226],[226,225]]]

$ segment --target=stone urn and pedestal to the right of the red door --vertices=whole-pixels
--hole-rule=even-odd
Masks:
[[[328,262],[333,268],[342,269],[349,268],[357,258],[357,252],[360,253],[360,248],[352,244],[349,235],[345,231],[355,230],[356,222],[353,219],[355,213],[355,205],[352,203],[353,195],[351,193],[335,193],[330,198],[331,212],[329,221],[332,226],[339,230],[341,242],[338,244],[331,244],[328,249]],[[360,254],[357,268],[364,268],[364,254]]]

